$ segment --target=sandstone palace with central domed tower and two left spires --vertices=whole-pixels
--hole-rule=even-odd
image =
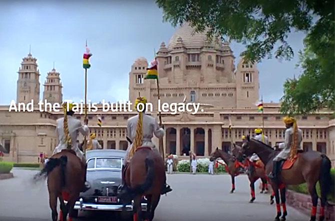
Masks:
[[[285,125],[280,114],[280,103],[263,103],[263,114],[257,111],[259,99],[259,74],[255,63],[235,57],[227,42],[208,39],[205,33],[196,33],[187,24],[179,27],[168,44],[161,43],[156,54],[158,61],[161,102],[199,102],[196,114],[187,112],[162,113],[166,131],[163,138],[164,152],[181,158],[189,151],[199,157],[208,156],[214,148],[228,151],[231,143],[240,144],[242,135],[253,135],[262,127],[271,145],[284,140]],[[129,100],[140,95],[157,103],[157,84],[153,79],[144,80],[148,61],[137,58],[129,72]],[[62,101],[60,73],[54,68],[47,73],[43,99]],[[18,70],[16,102],[37,103],[39,100],[39,70],[36,58],[29,53]],[[8,105],[0,106],[0,142],[5,150],[5,160],[35,162],[40,152],[51,155],[57,145],[56,119],[62,112],[8,112]],[[157,115],[157,106],[149,114]],[[89,128],[103,148],[126,149],[126,121],[136,112],[89,112]],[[335,119],[331,111],[299,116],[302,129],[302,147],[306,151],[326,153],[335,164]],[[97,116],[102,119],[98,126]],[[83,121],[83,115],[75,114]],[[229,129],[229,125],[231,128]],[[81,142],[82,136],[79,136]],[[156,143],[158,140],[155,138]]]

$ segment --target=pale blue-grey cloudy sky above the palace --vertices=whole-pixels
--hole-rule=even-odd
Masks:
[[[162,21],[162,11],[152,1],[1,1],[0,7],[0,104],[16,99],[17,70],[29,52],[37,58],[40,98],[45,76],[60,72],[63,98],[83,99],[82,53],[85,39],[93,56],[88,71],[88,98],[117,101],[128,99],[128,73],[139,56],[153,58],[162,41],[166,44],[175,28]],[[295,51],[290,61],[263,60],[258,64],[260,95],[278,101],[287,77],[298,75],[297,51],[303,33],[293,32],[289,43]],[[230,44],[238,62],[244,46]]]

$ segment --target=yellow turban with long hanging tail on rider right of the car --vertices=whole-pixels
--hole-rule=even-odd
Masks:
[[[143,103],[145,105],[146,98],[139,96],[135,101],[135,107],[138,103]],[[143,142],[143,111],[138,112],[138,120],[136,125],[135,139],[132,143],[132,148],[130,149],[129,159],[135,154],[136,149],[142,145]]]

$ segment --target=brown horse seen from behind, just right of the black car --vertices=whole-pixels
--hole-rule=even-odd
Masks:
[[[134,216],[137,214],[139,221],[144,219],[151,221],[166,180],[163,158],[150,147],[138,147],[124,169],[124,175],[127,194],[118,194],[118,197],[124,204],[133,199]],[[145,213],[141,208],[142,196],[147,199]]]

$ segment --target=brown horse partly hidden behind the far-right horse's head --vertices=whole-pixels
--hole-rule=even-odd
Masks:
[[[235,145],[234,144],[234,148],[231,150],[232,154],[238,158],[239,152],[241,150],[241,146]],[[240,160],[240,159],[238,159]],[[258,162],[255,164],[254,162],[250,162],[248,158],[245,158],[244,160],[244,165],[248,167],[248,179],[250,182],[250,192],[251,192],[251,199],[250,199],[250,203],[252,203],[255,199],[256,199],[256,195],[255,195],[255,189],[254,189],[254,183],[260,179],[262,182],[262,188],[260,190],[260,193],[267,193],[268,188],[267,188],[267,176],[265,174],[265,168],[264,168],[264,164],[262,162],[260,162],[262,165],[258,165]],[[253,167],[251,169],[251,167]],[[273,195],[270,196],[270,204],[272,204],[273,201]]]

